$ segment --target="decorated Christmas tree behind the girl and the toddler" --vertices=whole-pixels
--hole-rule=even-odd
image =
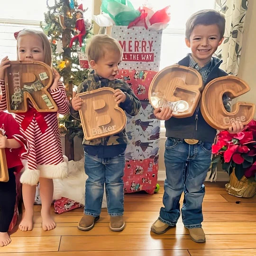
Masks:
[[[45,13],[46,26],[42,26],[42,28],[45,34],[50,37],[53,67],[63,77],[67,97],[71,100],[73,87],[78,86],[87,77],[89,71],[89,69],[81,68],[81,58],[79,60],[79,56],[84,55],[86,40],[91,37],[91,24],[85,22],[85,31],[82,36],[80,35],[81,40],[77,35],[82,32],[77,31],[76,23],[78,19],[84,22],[83,13],[86,10],[82,9],[82,5],[78,6],[75,0],[55,0],[53,6],[50,6],[49,0],[46,0],[46,4],[48,9]],[[79,40],[74,40],[73,44],[70,45],[72,37]],[[73,119],[71,115],[59,118],[59,123],[62,134],[65,133],[65,128],[67,129],[66,137],[71,143],[69,147],[73,146],[74,136],[83,137],[80,121]],[[73,152],[71,152],[69,158],[73,158]]]

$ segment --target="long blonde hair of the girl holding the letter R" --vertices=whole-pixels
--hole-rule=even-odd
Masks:
[[[52,65],[52,48],[50,42],[44,32],[32,29],[23,29],[18,32],[17,36],[17,59],[18,59],[18,39],[26,35],[37,35],[42,40],[42,45],[44,49],[44,63],[51,66]],[[18,59],[19,60],[19,59]]]

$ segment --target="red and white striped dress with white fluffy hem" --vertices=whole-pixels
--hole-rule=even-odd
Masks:
[[[4,81],[0,80],[0,85],[3,93],[2,101],[0,102],[0,110],[7,109],[6,91]],[[69,112],[70,104],[64,90],[64,85],[59,81],[59,87],[49,91],[54,99],[58,113],[65,115]],[[29,145],[28,153],[23,155],[22,161],[25,165],[24,173],[21,176],[21,183],[30,185],[37,184],[39,177],[45,178],[64,178],[68,173],[67,160],[64,161],[62,154],[61,140],[58,130],[57,112],[43,113],[47,127],[41,131],[38,126],[37,118],[42,113],[37,112],[32,105],[29,104],[29,110],[33,110],[32,119],[26,128],[22,128],[22,121],[27,119],[26,113],[16,113],[20,132],[26,137]],[[30,112],[31,113],[31,112]]]

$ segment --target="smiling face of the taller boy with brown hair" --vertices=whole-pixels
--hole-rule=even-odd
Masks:
[[[203,67],[222,43],[219,27],[212,25],[197,25],[192,30],[189,39],[185,38],[186,45],[191,48],[193,59]]]

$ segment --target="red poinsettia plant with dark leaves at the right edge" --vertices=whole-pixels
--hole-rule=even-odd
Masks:
[[[212,164],[221,161],[222,169],[229,174],[234,169],[238,180],[243,176],[256,180],[256,120],[250,121],[239,133],[219,132],[212,154],[215,154]]]

